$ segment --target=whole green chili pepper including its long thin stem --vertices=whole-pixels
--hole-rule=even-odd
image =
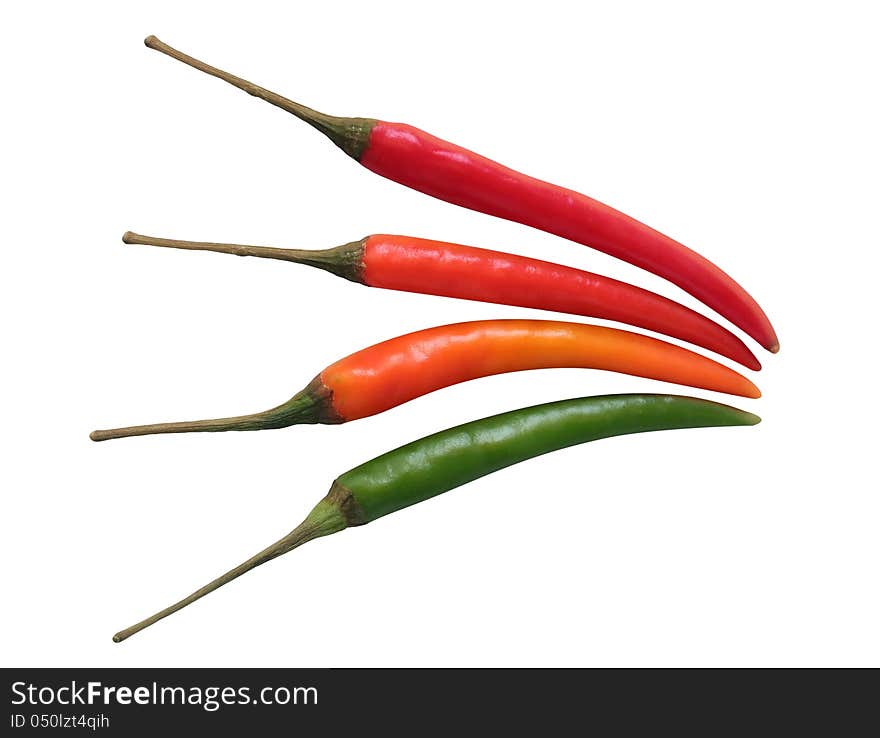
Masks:
[[[338,477],[284,538],[113,640],[125,640],[315,538],[364,525],[505,467],[601,438],[681,428],[755,425],[760,418],[708,400],[674,395],[604,395],[562,400],[475,420],[401,446]]]

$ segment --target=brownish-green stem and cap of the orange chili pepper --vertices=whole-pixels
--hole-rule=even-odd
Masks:
[[[89,434],[89,438],[93,441],[109,441],[112,438],[147,436],[156,433],[252,431],[287,428],[291,425],[340,423],[342,421],[336,416],[330,403],[330,394],[330,390],[324,387],[320,378],[316,377],[304,390],[297,392],[287,402],[261,413],[210,420],[184,420],[176,423],[154,423],[152,425],[96,430]]]

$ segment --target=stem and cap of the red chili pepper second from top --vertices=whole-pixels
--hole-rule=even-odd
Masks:
[[[323,269],[352,282],[364,283],[363,257],[366,238],[335,246],[331,249],[279,249],[270,246],[245,246],[237,243],[213,243],[210,241],[180,241],[157,236],[144,236],[126,231],[122,242],[141,246],[160,246],[188,251],[214,251],[234,256],[256,256],[261,259],[292,261],[295,264]]]

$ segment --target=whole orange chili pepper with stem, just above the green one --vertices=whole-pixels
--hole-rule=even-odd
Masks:
[[[192,431],[248,431],[366,418],[494,374],[580,367],[757,398],[723,364],[638,333],[551,320],[482,320],[398,336],[331,364],[283,405],[253,415],[93,431],[93,441]]]

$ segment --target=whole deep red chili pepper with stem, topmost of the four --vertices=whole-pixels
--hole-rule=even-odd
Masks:
[[[618,210],[579,192],[528,177],[413,126],[319,113],[187,56],[155,36],[144,43],[292,113],[376,174],[647,269],[689,292],[767,350],[779,350],[764,311],[736,281],[705,257]]]

